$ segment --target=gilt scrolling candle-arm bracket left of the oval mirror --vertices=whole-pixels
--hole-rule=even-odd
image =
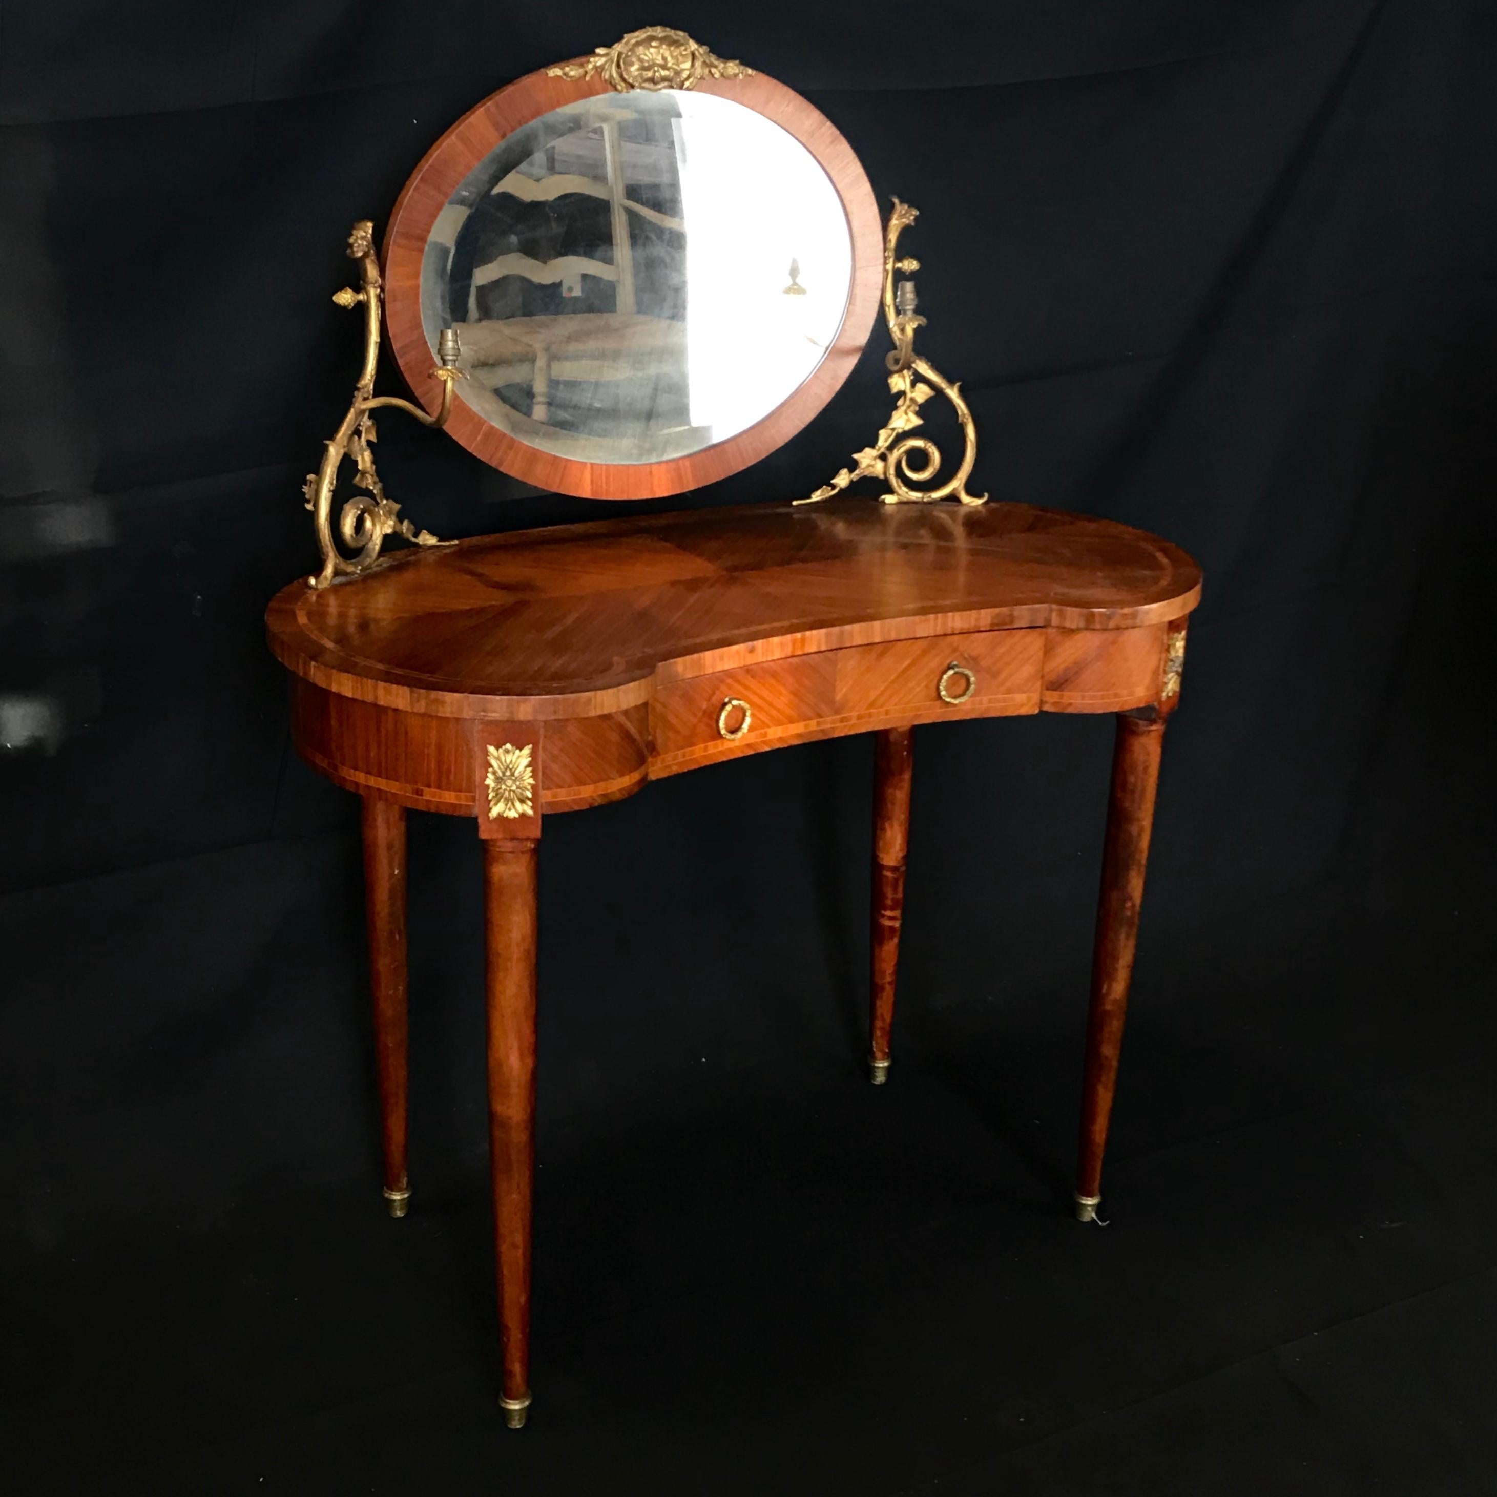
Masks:
[[[442,380],[442,404],[437,413],[422,410],[421,406],[398,395],[376,395],[374,374],[379,368],[380,311],[383,299],[383,281],[379,272],[379,259],[374,254],[374,225],[367,219],[353,225],[349,235],[349,259],[359,266],[361,289],[352,290],[347,286],[334,293],[334,301],[340,307],[353,308],[364,305],[364,367],[359,380],[353,386],[353,401],[343,424],[326,443],[322,454],[322,466],[316,473],[307,475],[302,493],[307,509],[311,510],[317,528],[317,546],[322,551],[322,570],[316,576],[307,578],[310,587],[326,587],[340,576],[359,576],[379,563],[380,548],[385,537],[395,534],[406,540],[413,540],[418,546],[439,546],[428,530],[418,530],[409,519],[400,518],[400,504],[385,494],[385,485],[374,469],[374,418],[373,412],[380,407],[404,410],[415,416],[424,427],[445,427],[452,415],[452,394],[457,382],[463,379],[463,371],[457,367],[461,355],[455,328],[445,328],[437,347],[440,365],[431,371],[433,379]],[[338,469],[343,460],[352,458],[356,475],[353,482],[364,490],[362,494],[350,499],[338,515],[337,536],[332,527],[332,490],[338,481]],[[349,555],[343,548],[352,551]]]

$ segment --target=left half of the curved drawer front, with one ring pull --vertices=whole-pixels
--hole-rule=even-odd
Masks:
[[[769,748],[804,734],[807,723],[831,717],[837,710],[834,656],[768,660],[662,686],[650,708],[653,772]],[[747,704],[747,714],[729,702]]]

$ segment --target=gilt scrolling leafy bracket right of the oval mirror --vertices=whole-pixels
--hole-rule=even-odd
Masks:
[[[894,340],[894,352],[885,355],[885,364],[889,367],[889,392],[898,395],[898,403],[874,445],[852,455],[853,467],[843,469],[807,499],[795,500],[796,504],[832,499],[861,478],[876,478],[889,485],[889,493],[879,496],[885,504],[928,504],[940,499],[957,499],[963,504],[987,503],[987,494],[967,493],[967,479],[978,460],[978,428],[961,398],[961,385],[948,380],[915,352],[915,329],[925,326],[925,319],[915,310],[915,281],[895,283],[895,274],[910,275],[921,268],[919,260],[901,259],[898,253],[900,235],[915,222],[918,211],[895,198],[883,240],[883,319]],[[909,436],[925,424],[921,406],[937,391],[957,412],[964,442],[963,457],[957,472],[945,484],[916,488],[913,485],[928,482],[940,470],[940,449],[936,443],[928,437]]]

